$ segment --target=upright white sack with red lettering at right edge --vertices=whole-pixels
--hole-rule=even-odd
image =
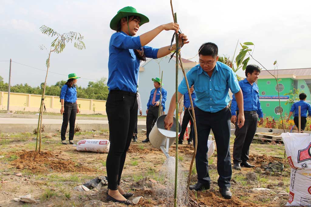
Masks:
[[[291,167],[287,206],[311,207],[311,136],[282,133],[287,160]]]

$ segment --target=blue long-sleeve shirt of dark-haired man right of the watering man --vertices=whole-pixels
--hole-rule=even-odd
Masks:
[[[247,79],[240,80],[239,86],[243,92],[243,107],[244,111],[256,111],[259,118],[263,117],[262,109],[260,106],[259,101],[259,89],[256,83],[251,85],[248,83]],[[231,102],[231,115],[235,116],[236,111],[239,110],[239,107],[236,103],[234,94],[232,95],[232,102]]]

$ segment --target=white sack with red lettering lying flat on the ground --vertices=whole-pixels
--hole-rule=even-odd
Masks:
[[[110,142],[102,139],[83,139],[73,146],[77,147],[77,151],[108,153]]]

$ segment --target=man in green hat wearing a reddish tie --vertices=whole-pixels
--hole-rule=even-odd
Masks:
[[[153,86],[155,88],[151,90],[149,100],[147,102],[147,110],[146,110],[147,138],[143,140],[142,142],[149,142],[149,134],[151,132],[152,127],[156,123],[156,120],[158,119],[159,110],[161,110],[160,107],[163,107],[163,114],[165,111],[165,101],[166,101],[167,92],[163,87],[161,88],[161,91],[160,91],[161,79],[155,78],[151,80],[153,81]],[[161,96],[162,96],[162,99],[161,99]],[[161,102],[161,105],[160,105],[160,102]]]

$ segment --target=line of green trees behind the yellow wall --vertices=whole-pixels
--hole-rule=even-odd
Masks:
[[[106,78],[101,78],[100,80],[93,82],[90,81],[87,88],[82,88],[77,85],[77,97],[95,100],[107,100],[108,97],[108,86],[106,84]],[[47,96],[59,96],[61,88],[66,83],[66,80],[61,80],[55,83],[55,85],[46,86],[45,95]],[[11,85],[10,91],[13,93],[29,93],[29,94],[42,94],[44,83],[40,86],[31,87],[27,83]],[[8,83],[4,83],[2,76],[0,76],[0,91],[7,92],[9,88]]]

